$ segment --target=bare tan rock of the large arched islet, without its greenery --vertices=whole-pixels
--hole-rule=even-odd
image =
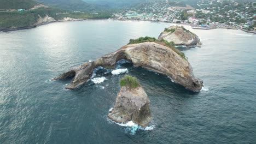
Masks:
[[[115,63],[120,59],[132,62],[135,67],[143,67],[167,75],[171,80],[191,91],[200,91],[202,89],[203,82],[194,76],[193,69],[187,59],[179,56],[170,47],[154,42],[123,46],[113,53],[98,58],[96,61],[84,63],[77,68],[73,68],[53,80],[74,77],[72,82],[66,86],[68,89],[74,89],[88,81],[95,68],[101,66],[114,69]]]

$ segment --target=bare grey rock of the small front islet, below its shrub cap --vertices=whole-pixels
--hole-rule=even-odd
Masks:
[[[149,109],[149,98],[142,87],[127,88],[121,87],[112,111],[108,117],[118,123],[132,121],[146,127],[152,117]]]

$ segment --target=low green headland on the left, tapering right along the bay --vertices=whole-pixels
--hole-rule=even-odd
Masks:
[[[108,13],[74,13],[72,11],[57,8],[38,8],[27,11],[0,11],[0,31],[11,31],[15,29],[24,29],[37,26],[36,22],[40,17],[53,17],[56,21],[64,17],[74,19],[107,19]]]

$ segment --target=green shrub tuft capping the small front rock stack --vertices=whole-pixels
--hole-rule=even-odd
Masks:
[[[136,88],[140,86],[137,78],[130,75],[125,75],[120,80],[120,87]]]

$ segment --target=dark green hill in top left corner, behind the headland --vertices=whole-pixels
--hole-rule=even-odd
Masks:
[[[36,4],[32,0],[0,0],[0,9],[30,9]]]

